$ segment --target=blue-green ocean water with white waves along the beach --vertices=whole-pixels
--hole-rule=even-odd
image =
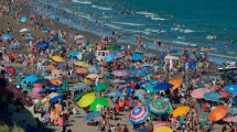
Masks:
[[[226,54],[227,61],[237,58],[236,0],[72,0],[68,4],[63,0],[40,0],[37,3],[51,7],[51,19],[60,16],[56,8],[61,7],[66,12],[66,15],[60,16],[61,22],[71,19],[78,30],[85,31],[85,20],[88,20],[93,33],[96,33],[96,29],[100,30],[99,35],[111,35],[111,31],[118,31],[121,33],[121,42],[134,44],[134,37],[141,32],[143,43],[149,48],[153,48],[154,38],[160,37],[165,45],[172,41],[176,50],[188,46],[212,47],[211,61],[217,64],[223,63],[223,54]],[[122,7],[123,14],[119,14]],[[79,15],[71,15],[73,12]],[[91,18],[90,13],[94,13]],[[79,18],[84,19],[82,28]],[[96,19],[98,26],[95,25]],[[177,24],[184,24],[185,28],[176,28]],[[215,35],[217,41],[214,44]]]

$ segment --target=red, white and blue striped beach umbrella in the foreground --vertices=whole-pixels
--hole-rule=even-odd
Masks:
[[[131,124],[138,124],[148,119],[150,116],[150,108],[148,106],[134,107],[129,113],[129,121]]]

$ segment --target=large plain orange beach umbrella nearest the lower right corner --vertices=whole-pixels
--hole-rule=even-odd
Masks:
[[[223,119],[227,113],[226,106],[218,106],[209,112],[209,120],[211,121],[218,121]]]

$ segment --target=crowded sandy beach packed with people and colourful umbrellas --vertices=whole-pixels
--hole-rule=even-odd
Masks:
[[[44,9],[0,4],[0,131],[236,132],[235,62],[218,66],[211,48],[158,36],[151,50],[142,32],[137,45],[121,43],[97,21],[80,20],[80,31]]]

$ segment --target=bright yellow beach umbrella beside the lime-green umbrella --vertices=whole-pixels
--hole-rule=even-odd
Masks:
[[[88,107],[89,105],[93,103],[93,101],[95,100],[96,96],[95,94],[90,92],[87,94],[85,96],[83,96],[79,101],[78,101],[78,106],[84,108],[84,107]]]

